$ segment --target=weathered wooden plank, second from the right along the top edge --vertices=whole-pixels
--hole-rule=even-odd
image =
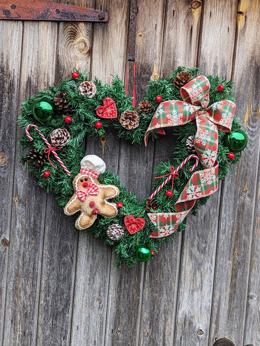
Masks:
[[[224,7],[230,8],[232,15],[224,12]],[[236,31],[234,1],[206,1],[202,16],[199,67],[203,73],[231,78]],[[188,227],[181,249],[176,345],[206,346],[209,342],[220,191],[221,185],[197,217],[187,217]]]

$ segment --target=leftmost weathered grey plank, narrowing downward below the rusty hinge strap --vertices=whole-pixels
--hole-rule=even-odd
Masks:
[[[0,345],[4,325],[8,242],[16,148],[16,120],[19,97],[22,23],[0,22],[0,199],[6,207],[0,217]],[[10,32],[14,34],[10,37]],[[12,95],[12,96],[11,96]],[[7,207],[8,206],[8,207]]]

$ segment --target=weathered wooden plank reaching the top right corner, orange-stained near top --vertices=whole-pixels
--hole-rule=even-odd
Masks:
[[[240,1],[237,20],[234,92],[237,99],[236,115],[244,121],[248,131],[248,150],[242,155],[239,169],[232,169],[222,188],[210,343],[213,344],[215,338],[224,336],[235,345],[243,345],[246,303],[252,303],[250,293],[254,294],[250,291],[248,295],[247,287],[260,151],[259,1]],[[252,157],[257,159],[252,160]],[[258,233],[257,230],[254,232],[254,244],[259,237]],[[254,255],[257,254],[253,252]],[[252,265],[258,262],[259,266],[259,259],[251,258]],[[257,276],[253,272],[250,287],[255,279],[257,280]],[[249,317],[252,313],[257,314],[256,310],[253,311],[249,307],[246,338],[251,339],[252,336],[253,345],[257,345],[254,335],[259,334],[259,326],[256,326],[257,321],[251,326]],[[259,321],[259,315],[257,319]]]

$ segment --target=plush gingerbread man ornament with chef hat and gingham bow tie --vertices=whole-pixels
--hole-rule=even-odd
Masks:
[[[65,215],[80,212],[75,227],[83,230],[90,227],[97,218],[97,214],[115,217],[118,214],[116,203],[108,199],[119,195],[119,189],[114,185],[100,184],[100,173],[104,173],[106,165],[96,155],[86,155],[80,162],[80,173],[73,180],[74,195],[64,208]]]

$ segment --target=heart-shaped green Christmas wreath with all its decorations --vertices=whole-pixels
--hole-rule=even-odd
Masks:
[[[168,79],[150,82],[134,108],[118,77],[108,86],[74,72],[22,105],[20,146],[30,151],[21,162],[28,161],[40,187],[53,191],[64,213],[76,217],[78,229],[115,245],[117,266],[149,260],[162,242],[183,231],[185,216],[205,204],[246,146],[246,133],[233,117],[232,82],[198,74],[198,68],[178,67]],[[140,202],[105,171],[101,158],[85,156],[84,136],[101,136],[108,127],[133,144],[155,139],[166,127],[177,137],[173,159],[156,167],[156,190]]]

